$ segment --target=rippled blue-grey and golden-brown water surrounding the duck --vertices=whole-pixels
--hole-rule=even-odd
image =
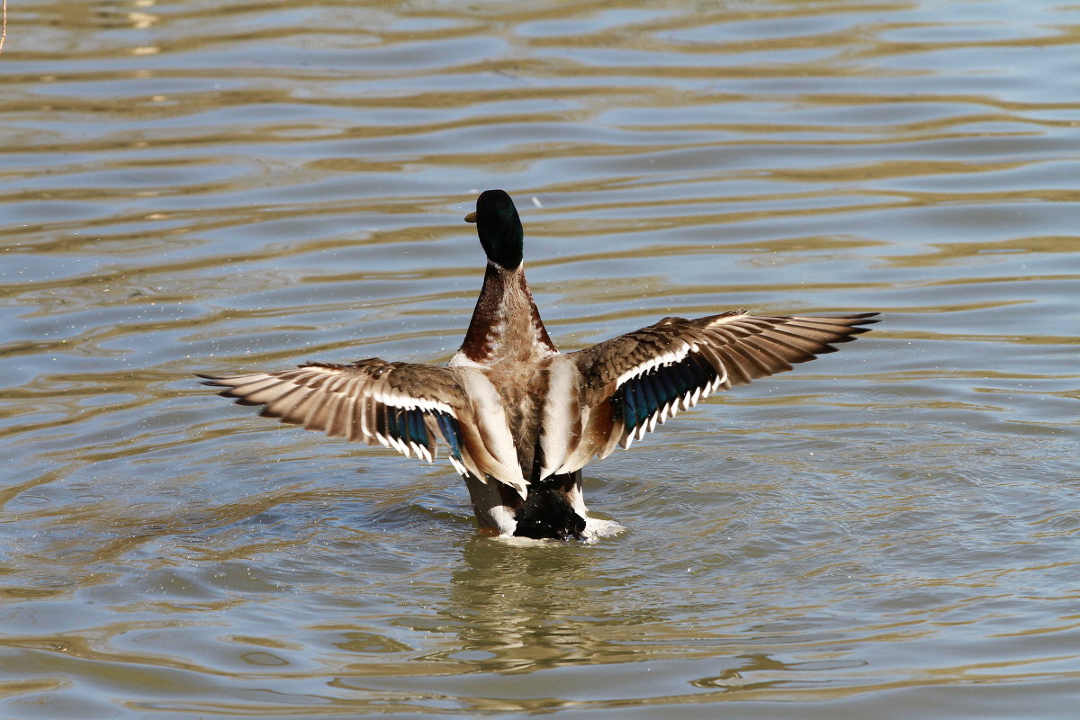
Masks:
[[[1080,10],[9,3],[4,718],[1067,718]],[[193,372],[444,362],[518,200],[552,337],[878,310],[476,535]]]

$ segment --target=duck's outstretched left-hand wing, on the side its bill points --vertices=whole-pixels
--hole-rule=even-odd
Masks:
[[[474,430],[471,406],[454,370],[377,357],[350,365],[309,363],[295,370],[211,376],[207,385],[260,415],[332,437],[383,445],[429,462],[436,440],[459,472],[521,477],[491,457]]]

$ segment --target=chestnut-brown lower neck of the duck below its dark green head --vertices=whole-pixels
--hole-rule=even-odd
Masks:
[[[529,362],[555,352],[524,267],[507,270],[488,262],[461,353],[474,363],[490,365],[496,359]]]

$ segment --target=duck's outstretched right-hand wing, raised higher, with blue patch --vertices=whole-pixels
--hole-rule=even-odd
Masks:
[[[718,390],[792,369],[848,342],[877,313],[767,316],[745,311],[656,325],[570,353],[581,371],[583,433],[558,472],[629,447]]]

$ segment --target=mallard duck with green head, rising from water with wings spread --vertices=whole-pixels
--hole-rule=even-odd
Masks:
[[[588,540],[622,527],[592,517],[582,468],[629,448],[719,391],[834,352],[875,312],[756,315],[731,310],[647,327],[575,352],[552,342],[525,280],[514,201],[486,190],[464,218],[487,257],[461,347],[444,366],[368,357],[295,369],[200,375],[260,415],[429,463],[463,478],[480,531]]]

